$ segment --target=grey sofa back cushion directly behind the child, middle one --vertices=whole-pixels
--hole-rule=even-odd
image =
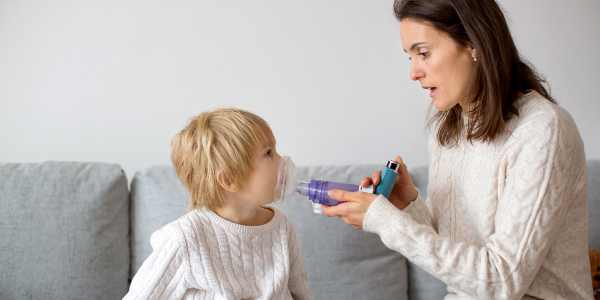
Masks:
[[[381,166],[299,167],[297,178],[358,183]],[[172,167],[138,172],[131,185],[132,269],[152,252],[150,236],[186,213],[190,199]],[[339,218],[312,211],[308,198],[295,195],[271,204],[293,221],[315,299],[407,299],[406,261],[379,236],[354,229]]]

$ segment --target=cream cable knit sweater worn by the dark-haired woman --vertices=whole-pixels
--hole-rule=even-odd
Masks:
[[[492,143],[430,138],[427,202],[380,196],[363,227],[448,284],[446,299],[593,299],[583,142],[537,92],[517,107]]]

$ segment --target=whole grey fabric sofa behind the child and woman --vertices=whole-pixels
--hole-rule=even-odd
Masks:
[[[299,179],[358,182],[381,166],[298,168]],[[423,196],[427,167],[410,170]],[[589,241],[600,249],[600,161],[588,161]],[[152,251],[150,235],[186,213],[170,166],[137,172],[104,163],[0,164],[0,299],[121,299]],[[377,235],[312,212],[294,196],[276,205],[302,242],[315,299],[441,299],[445,285]]]

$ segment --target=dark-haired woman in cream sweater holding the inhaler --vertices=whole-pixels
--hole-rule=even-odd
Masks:
[[[498,4],[396,0],[394,11],[410,78],[439,110],[428,201],[403,165],[389,200],[331,191],[347,203],[325,214],[379,234],[444,281],[446,299],[593,299],[583,142]]]

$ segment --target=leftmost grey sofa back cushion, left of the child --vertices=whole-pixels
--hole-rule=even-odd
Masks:
[[[121,299],[129,191],[102,163],[0,164],[0,299]]]

